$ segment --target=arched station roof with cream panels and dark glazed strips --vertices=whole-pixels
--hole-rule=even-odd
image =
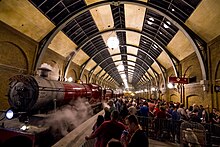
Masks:
[[[215,2],[216,5],[220,5],[218,1]],[[86,61],[91,60],[88,64],[89,69],[93,69],[108,58],[99,65],[101,69],[109,64],[115,68],[117,65],[113,63],[116,60],[122,60],[121,63],[125,65],[129,65],[129,60],[138,65],[144,65],[143,61],[146,61],[158,73],[162,74],[164,70],[173,67],[174,73],[179,76],[179,71],[175,69],[178,62],[195,52],[200,63],[202,78],[207,79],[204,49],[206,42],[219,34],[219,31],[215,34],[216,32],[210,29],[210,34],[203,35],[202,30],[200,32],[192,25],[197,23],[194,22],[195,16],[198,18],[198,14],[203,13],[205,6],[208,6],[209,10],[215,7],[214,2],[201,0],[29,0],[19,4],[1,3],[2,8],[17,6],[14,9],[17,8],[15,11],[19,11],[20,15],[26,13],[23,21],[29,22],[28,20],[38,17],[39,24],[36,20],[33,20],[36,22],[32,21],[35,24],[30,23],[30,26],[33,25],[36,29],[29,28],[30,31],[25,32],[16,26],[19,23],[13,24],[14,22],[6,19],[4,15],[0,16],[9,25],[14,25],[15,28],[20,29],[19,31],[40,42],[36,68],[45,50],[50,48],[66,57],[67,63],[73,61],[84,66]],[[22,9],[22,6],[26,9]],[[33,14],[28,14],[29,11]],[[220,16],[220,12],[215,15]],[[201,21],[202,16],[199,17]],[[203,25],[208,28],[207,24]],[[45,30],[39,31],[41,28]],[[106,48],[107,38],[111,35],[119,38],[119,48],[100,52]],[[113,57],[112,55],[115,54],[118,56]],[[134,68],[131,72],[139,77],[134,78],[130,84],[135,85],[143,77],[144,74],[138,71],[139,68]],[[105,72],[108,73],[107,70]],[[119,73],[114,73],[116,76],[112,76],[113,79],[120,84]]]

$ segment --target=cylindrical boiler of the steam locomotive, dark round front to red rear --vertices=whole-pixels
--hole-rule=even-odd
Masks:
[[[24,75],[14,76],[10,81],[9,104],[22,112],[41,110],[50,105],[61,106],[77,98],[86,98],[93,103],[101,102],[103,97],[102,88],[95,84],[61,82]]]

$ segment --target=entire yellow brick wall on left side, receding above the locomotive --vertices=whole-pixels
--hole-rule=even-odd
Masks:
[[[37,42],[0,21],[0,110],[9,108],[7,97],[9,78],[17,74],[36,74],[33,64],[37,46]],[[64,61],[64,57],[48,49],[41,63],[58,67],[62,76]],[[74,63],[70,64],[67,77],[75,77],[73,69],[78,78],[80,67]],[[88,76],[88,71],[85,70],[84,74]]]

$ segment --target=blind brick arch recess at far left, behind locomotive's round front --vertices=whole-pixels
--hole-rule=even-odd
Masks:
[[[7,101],[7,91],[9,78],[17,74],[29,73],[28,58],[24,50],[9,41],[0,41],[0,100],[1,109],[7,109],[9,107]]]

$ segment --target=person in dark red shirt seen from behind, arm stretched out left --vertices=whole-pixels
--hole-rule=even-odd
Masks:
[[[119,122],[118,118],[119,112],[116,110],[113,111],[111,113],[111,120],[104,121],[91,135],[86,136],[85,139],[97,138],[95,147],[106,147],[112,138],[119,140],[126,126]]]

